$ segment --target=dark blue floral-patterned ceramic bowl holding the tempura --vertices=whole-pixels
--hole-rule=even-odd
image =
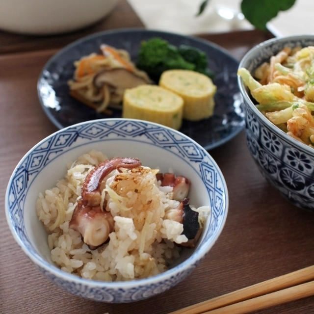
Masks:
[[[254,47],[239,67],[251,73],[285,46],[314,45],[314,35],[274,38]],[[238,78],[245,103],[246,139],[263,176],[294,205],[314,210],[314,149],[281,131],[256,108],[248,89]]]

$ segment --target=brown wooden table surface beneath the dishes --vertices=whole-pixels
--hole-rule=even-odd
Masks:
[[[121,0],[104,21],[83,31],[46,37],[0,32],[0,313],[165,314],[313,264],[314,213],[293,207],[263,179],[247,149],[244,131],[210,152],[229,189],[227,222],[207,257],[175,288],[136,303],[93,302],[54,286],[26,258],[9,232],[3,203],[20,158],[56,131],[37,99],[38,75],[65,44],[95,31],[133,26],[143,27]],[[270,35],[246,31],[200,36],[240,59]],[[256,313],[314,313],[314,297]]]

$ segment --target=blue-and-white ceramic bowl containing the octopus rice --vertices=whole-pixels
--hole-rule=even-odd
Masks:
[[[195,249],[185,249],[176,265],[156,276],[129,282],[79,278],[51,261],[47,233],[37,219],[39,192],[64,176],[66,165],[96,149],[108,157],[138,157],[144,165],[184,174],[192,182],[189,198],[195,206],[210,205]],[[166,291],[182,281],[208,253],[220,235],[228,211],[228,192],[217,164],[196,142],[178,131],[138,120],[102,119],[83,122],[48,136],[19,162],[8,183],[6,217],[17,243],[38,268],[58,286],[103,302],[132,302]]]

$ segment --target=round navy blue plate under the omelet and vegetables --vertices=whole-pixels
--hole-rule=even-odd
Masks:
[[[96,33],[66,46],[46,63],[40,74],[37,91],[40,103],[52,123],[59,129],[78,122],[121,117],[120,110],[106,116],[83,105],[69,95],[67,81],[73,77],[74,61],[92,52],[99,52],[105,43],[127,50],[136,62],[142,40],[161,37],[179,46],[189,45],[203,50],[209,58],[209,68],[215,73],[217,86],[214,115],[199,122],[183,121],[181,132],[194,139],[206,150],[222,145],[244,128],[244,105],[239,93],[236,71],[238,62],[223,48],[195,37],[145,30],[117,29]]]

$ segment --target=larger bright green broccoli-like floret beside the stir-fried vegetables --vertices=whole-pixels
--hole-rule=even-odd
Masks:
[[[142,42],[136,65],[155,81],[169,69],[195,70],[195,65],[184,60],[175,46],[158,37]]]

